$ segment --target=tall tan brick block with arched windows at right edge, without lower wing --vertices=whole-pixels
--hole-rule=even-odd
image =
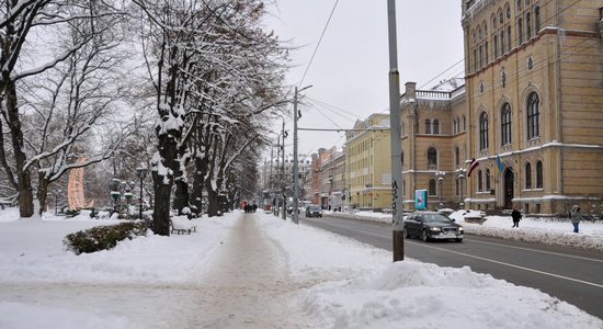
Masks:
[[[471,206],[565,213],[574,203],[601,203],[602,7],[463,2],[465,161],[480,163],[468,179]]]

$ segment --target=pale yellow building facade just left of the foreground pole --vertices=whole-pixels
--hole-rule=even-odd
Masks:
[[[373,114],[357,121],[345,137],[348,206],[391,208],[389,114]]]

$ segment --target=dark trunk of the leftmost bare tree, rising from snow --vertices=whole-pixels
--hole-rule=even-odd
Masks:
[[[7,77],[3,77],[4,79]],[[25,169],[27,156],[23,149],[23,132],[16,105],[16,88],[14,81],[5,82],[7,112],[9,113],[9,128],[11,131],[12,147],[19,185],[19,215],[29,218],[34,215],[34,194],[32,190],[32,177],[29,169]]]

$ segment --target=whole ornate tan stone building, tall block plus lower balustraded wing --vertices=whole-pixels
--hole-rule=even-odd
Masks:
[[[402,95],[407,208],[601,212],[603,0],[462,3],[464,88]]]

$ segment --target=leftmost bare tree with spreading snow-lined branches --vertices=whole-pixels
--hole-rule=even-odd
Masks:
[[[58,160],[60,157],[68,157],[69,152],[66,151],[65,145],[58,147],[61,150],[57,151],[47,147],[39,148],[39,144],[36,146],[38,147],[38,151],[42,149],[42,154],[33,152],[30,155],[27,152],[27,150],[32,150],[31,147],[35,143],[27,140],[24,134],[25,125],[23,117],[26,117],[26,115],[20,115],[21,94],[19,92],[19,83],[22,83],[27,78],[47,72],[57,67],[58,64],[77,56],[77,54],[90,54],[90,49],[86,47],[96,44],[102,38],[100,35],[105,32],[103,27],[96,30],[94,19],[104,16],[107,11],[112,10],[111,7],[100,5],[100,3],[102,2],[78,3],[59,0],[8,0],[5,1],[5,5],[0,8],[0,67],[2,68],[0,72],[0,113],[2,121],[2,124],[0,124],[0,136],[2,136],[2,140],[0,140],[0,147],[2,147],[0,164],[10,184],[19,193],[21,217],[31,217],[34,213],[32,169],[39,168],[42,159],[55,158]],[[47,54],[44,54],[46,56],[42,57],[47,58],[47,60],[42,64],[24,56],[26,53],[23,49],[35,49],[38,46],[36,42],[39,38],[32,38],[32,42],[27,42],[30,35],[35,33],[43,34],[44,31],[52,29],[67,29],[67,26],[71,27],[71,31],[78,32],[81,31],[80,29],[83,29],[87,33],[78,33],[77,37],[72,38],[72,43],[60,45],[59,48],[65,50],[59,53],[47,52]],[[71,76],[71,78],[73,77]],[[77,83],[72,87],[71,91],[78,88]],[[80,93],[78,97],[84,95]],[[102,106],[102,101],[93,106],[99,105]],[[78,105],[75,105],[71,110],[78,107]],[[38,107],[35,110],[41,111],[42,109]],[[78,137],[84,135],[90,126],[94,124],[98,115],[87,117],[71,116],[69,120],[76,118],[81,120],[81,122],[68,127],[58,126],[58,123],[48,120],[46,121],[45,128],[60,127],[59,129],[64,129],[67,136],[65,143],[75,144]],[[55,124],[57,126],[54,126]],[[8,136],[11,139],[10,148],[7,147],[8,143],[4,143],[3,139],[4,129],[7,128]],[[65,161],[61,162],[65,163]],[[50,172],[54,174],[49,174]],[[43,197],[45,197],[48,182],[53,180],[53,177],[56,179],[57,173],[61,174],[62,172],[65,172],[65,169],[54,168],[49,171],[46,170],[43,177],[41,177],[42,184],[39,190],[42,191],[38,192],[38,196],[44,195]]]

